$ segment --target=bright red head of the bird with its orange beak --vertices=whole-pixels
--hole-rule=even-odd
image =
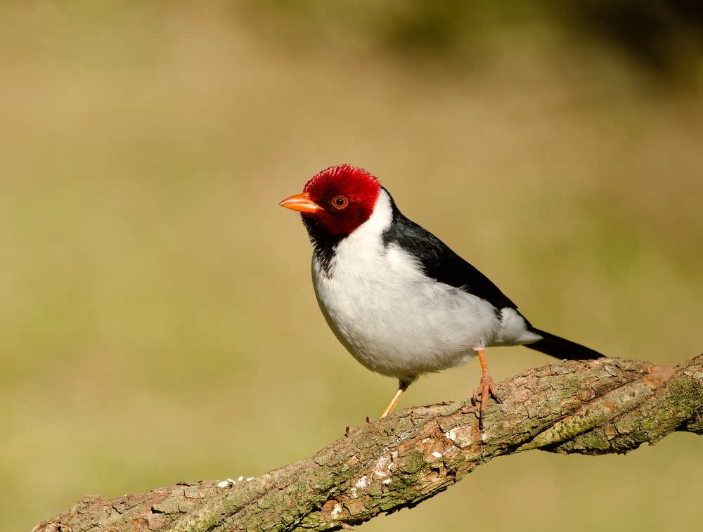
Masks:
[[[301,212],[308,231],[344,238],[369,219],[380,191],[378,179],[368,171],[339,164],[313,176],[302,194],[278,205]]]

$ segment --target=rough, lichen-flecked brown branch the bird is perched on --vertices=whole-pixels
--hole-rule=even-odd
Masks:
[[[253,479],[90,495],[35,532],[303,531],[351,528],[413,507],[499,455],[627,453],[675,430],[703,434],[703,355],[676,368],[562,361],[498,384],[479,429],[470,401],[402,410],[307,460]]]

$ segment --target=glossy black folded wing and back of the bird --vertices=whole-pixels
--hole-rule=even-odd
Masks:
[[[384,189],[385,190],[385,189]],[[387,192],[387,190],[386,190]],[[485,299],[496,309],[517,309],[491,280],[458,256],[430,231],[408,220],[391,198],[393,221],[383,233],[383,243],[399,245],[423,264],[428,277]]]

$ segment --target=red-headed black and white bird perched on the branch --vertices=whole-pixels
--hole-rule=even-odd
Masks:
[[[603,355],[533,327],[498,287],[430,231],[404,216],[386,188],[349,164],[314,175],[278,205],[301,213],[313,245],[312,280],[340,343],[369,370],[398,379],[380,418],[421,375],[478,356],[482,426],[500,402],[484,351],[524,345],[555,358]]]

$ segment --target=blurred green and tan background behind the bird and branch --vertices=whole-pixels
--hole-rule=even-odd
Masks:
[[[254,476],[378,416],[277,204],[349,162],[536,326],[703,351],[690,1],[0,1],[0,530]],[[492,349],[504,379],[550,358]],[[476,364],[401,408],[467,398]],[[527,453],[368,531],[694,530],[703,444]]]

